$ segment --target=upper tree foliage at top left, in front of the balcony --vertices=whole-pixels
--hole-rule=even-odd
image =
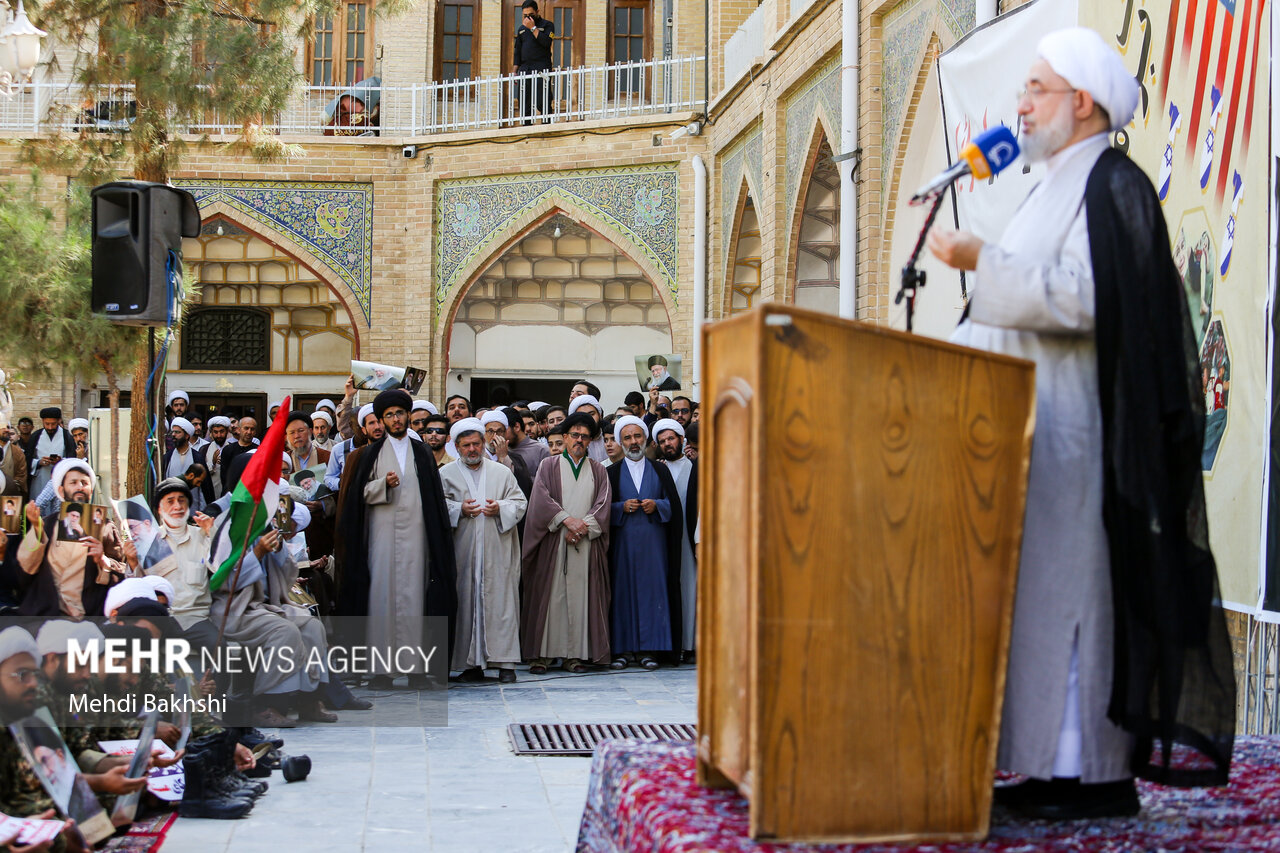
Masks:
[[[403,0],[397,3],[402,5]],[[253,138],[283,109],[300,74],[296,51],[334,0],[45,0],[40,26],[81,45],[72,72],[84,102],[136,100],[128,133],[82,131],[29,140],[28,161],[73,170],[86,183],[120,174],[166,181],[188,128],[241,128],[243,150],[278,159],[288,149]],[[64,64],[67,58],[61,58]],[[132,85],[132,93],[111,90]],[[72,168],[68,168],[72,167]]]

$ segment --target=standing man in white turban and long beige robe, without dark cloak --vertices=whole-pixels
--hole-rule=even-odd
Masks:
[[[461,459],[440,469],[454,528],[458,617],[453,670],[479,681],[486,667],[516,680],[520,657],[520,534],[527,501],[506,466],[485,459],[484,425],[475,418],[451,430]]]

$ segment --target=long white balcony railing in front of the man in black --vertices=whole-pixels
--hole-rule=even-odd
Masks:
[[[687,113],[703,105],[704,63],[701,56],[682,56],[447,83],[308,86],[298,90],[285,109],[264,117],[261,128],[298,136],[407,137]],[[340,119],[330,110],[343,96],[371,106],[362,119],[335,127]],[[129,86],[102,88],[86,97],[73,83],[37,82],[12,100],[0,99],[0,132],[119,133],[128,131],[134,111]],[[339,110],[338,115],[346,113]],[[241,127],[209,115],[187,131],[218,136],[239,133]]]

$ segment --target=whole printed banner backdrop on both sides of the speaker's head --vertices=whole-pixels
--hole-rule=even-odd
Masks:
[[[950,143],[959,147],[1000,122],[1016,129],[1015,92],[1037,41],[1075,23],[1114,45],[1142,86],[1138,114],[1114,143],[1143,167],[1164,205],[1201,350],[1202,464],[1222,598],[1254,610],[1271,585],[1261,569],[1270,3],[1039,0],[1021,6],[942,55]],[[960,182],[960,227],[993,240],[1038,177],[1039,167],[1015,167],[991,182]]]

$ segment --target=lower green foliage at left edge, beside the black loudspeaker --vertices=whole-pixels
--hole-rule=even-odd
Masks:
[[[27,374],[128,371],[146,333],[90,311],[87,193],[70,195],[64,225],[32,187],[38,175],[0,188],[0,352]]]

